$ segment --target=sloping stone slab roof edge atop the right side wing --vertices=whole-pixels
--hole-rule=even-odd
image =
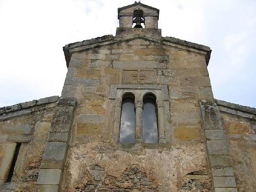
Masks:
[[[217,100],[217,99],[214,99],[214,100],[215,100],[215,102],[218,106],[231,108],[231,109],[235,109],[235,110],[238,110],[238,111],[243,111],[243,112],[246,112],[246,113],[251,113],[251,114],[256,115],[256,108],[247,107],[247,106],[243,106],[243,105],[238,105],[238,104],[235,104],[235,103],[229,103],[229,102],[223,101],[223,100]]]

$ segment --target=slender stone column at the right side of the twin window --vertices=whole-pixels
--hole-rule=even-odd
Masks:
[[[165,143],[165,130],[164,130],[164,108],[163,101],[157,100],[157,128],[158,128],[158,142]]]

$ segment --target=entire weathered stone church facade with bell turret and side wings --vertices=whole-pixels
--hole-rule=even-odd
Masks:
[[[255,192],[256,109],[213,98],[211,49],[118,19],[63,47],[61,97],[0,108],[0,191]]]

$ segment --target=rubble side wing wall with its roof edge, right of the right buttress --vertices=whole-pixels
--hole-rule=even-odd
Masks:
[[[220,108],[239,192],[256,189],[256,109],[221,100]]]

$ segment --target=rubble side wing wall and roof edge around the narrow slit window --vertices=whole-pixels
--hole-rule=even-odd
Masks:
[[[46,138],[58,96],[0,108],[0,191],[35,191]],[[21,143],[12,182],[6,182]]]

